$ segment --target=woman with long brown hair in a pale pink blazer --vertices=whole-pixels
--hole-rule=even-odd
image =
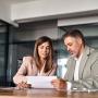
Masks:
[[[57,65],[53,62],[53,47],[49,37],[42,36],[36,40],[34,57],[24,57],[23,63],[13,77],[20,88],[30,87],[26,76],[54,75]]]

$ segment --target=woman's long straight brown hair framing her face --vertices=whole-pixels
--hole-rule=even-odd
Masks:
[[[49,52],[49,56],[47,57],[46,65],[45,65],[45,72],[48,72],[49,70],[51,70],[53,65],[53,47],[52,47],[52,40],[49,37],[42,36],[36,40],[34,57],[35,57],[37,68],[40,69],[40,58],[38,54],[38,46],[40,46],[44,42],[49,42],[49,49],[50,49],[49,50],[50,52]]]

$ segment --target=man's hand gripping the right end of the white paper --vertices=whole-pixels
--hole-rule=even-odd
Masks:
[[[57,89],[65,89],[66,88],[66,82],[62,78],[52,79],[51,84]]]

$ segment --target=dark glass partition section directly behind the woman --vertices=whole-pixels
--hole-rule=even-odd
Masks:
[[[59,51],[57,21],[22,23],[19,27],[10,27],[8,59],[9,82],[13,82],[12,78],[21,66],[23,57],[33,54],[35,41],[41,36],[48,36],[52,39],[54,61],[57,62]]]

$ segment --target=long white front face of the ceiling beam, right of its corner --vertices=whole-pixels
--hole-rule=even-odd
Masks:
[[[13,21],[36,21],[98,13],[98,0],[35,0],[12,5]]]

